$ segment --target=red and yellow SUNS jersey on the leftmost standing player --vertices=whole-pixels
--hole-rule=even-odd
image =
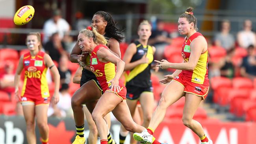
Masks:
[[[49,97],[48,84],[46,80],[47,67],[44,61],[44,52],[39,51],[37,55],[24,54],[23,67],[25,70],[24,85],[21,96]]]

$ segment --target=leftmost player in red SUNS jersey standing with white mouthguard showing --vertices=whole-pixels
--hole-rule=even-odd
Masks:
[[[26,44],[30,52],[22,55],[15,73],[15,95],[21,101],[26,120],[26,137],[28,144],[36,144],[35,117],[39,128],[42,144],[48,144],[49,127],[47,125],[47,111],[50,94],[46,80],[46,71],[50,68],[55,83],[52,102],[59,102],[59,72],[48,54],[41,51],[40,33],[29,33]],[[24,85],[19,95],[20,73],[25,70]]]

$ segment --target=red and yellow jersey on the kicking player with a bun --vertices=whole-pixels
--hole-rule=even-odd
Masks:
[[[186,38],[184,40],[184,43],[182,46],[182,57],[183,57],[184,63],[189,61],[189,56],[191,53],[190,43],[193,41],[193,39],[197,38],[198,36],[203,37],[201,33],[196,32],[193,35],[191,35],[188,39]],[[208,66],[208,50],[200,55],[197,65],[195,66],[195,69],[193,71],[182,70],[182,73],[184,74],[184,76],[188,77],[188,79],[190,79],[191,82],[193,83],[209,85],[207,66]]]

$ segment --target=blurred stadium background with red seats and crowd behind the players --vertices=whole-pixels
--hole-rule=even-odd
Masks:
[[[28,24],[16,26],[13,15],[25,5],[32,5],[35,15]],[[27,52],[27,33],[41,33],[44,46],[52,46],[45,51],[65,74],[61,79],[65,86],[60,90],[65,101],[50,106],[48,112],[49,143],[70,144],[75,137],[70,99],[79,88],[71,79],[78,65],[65,55],[70,54],[78,32],[91,24],[93,14],[107,11],[113,15],[117,26],[124,28],[126,38],[120,44],[122,55],[128,44],[138,38],[139,22],[149,20],[152,24],[150,44],[159,49],[155,58],[178,63],[182,61],[180,48],[184,36],[178,34],[177,21],[188,6],[194,7],[198,31],[208,40],[211,84],[208,97],[194,118],[202,123],[214,144],[253,144],[256,132],[255,0],[0,0],[0,144],[26,144],[25,121],[20,103],[14,98],[13,81],[19,57]],[[51,31],[45,23],[54,17],[63,18],[68,28],[58,33]],[[153,42],[158,36],[161,39]],[[62,52],[56,50],[56,43],[61,44]],[[158,81],[173,71],[153,72],[156,105],[165,87]],[[48,83],[53,93],[50,73]],[[184,99],[181,99],[169,107],[164,122],[154,133],[161,142],[199,144],[197,136],[182,124],[183,105]],[[114,117],[112,122],[111,133],[117,141],[119,122]],[[38,131],[37,137],[39,143]],[[129,140],[126,142],[128,144]]]

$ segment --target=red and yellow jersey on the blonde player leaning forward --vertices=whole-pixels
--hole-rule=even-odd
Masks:
[[[108,48],[107,46],[102,44],[94,48],[93,52],[90,54],[90,68],[91,71],[95,74],[98,82],[100,83],[103,92],[105,92],[111,86],[111,83],[107,82],[115,77],[117,67],[113,63],[103,63],[98,60],[97,51],[101,47]],[[119,86],[124,87],[124,83],[120,79]]]

